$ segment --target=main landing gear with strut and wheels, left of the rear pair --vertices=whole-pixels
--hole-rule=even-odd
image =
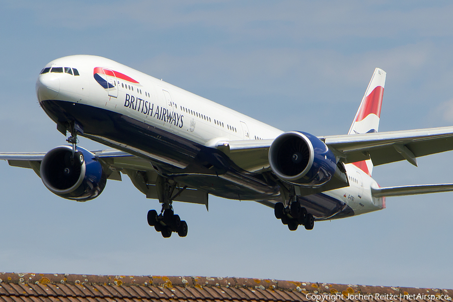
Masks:
[[[160,214],[156,210],[149,210],[146,216],[148,224],[154,226],[157,232],[161,232],[164,238],[169,238],[173,232],[178,233],[179,237],[186,237],[187,223],[174,213],[172,202],[187,186],[178,188],[178,192],[173,195],[177,183],[173,182],[173,184],[170,184],[169,180],[162,176],[158,177],[156,186],[158,188],[159,201],[162,202],[162,210]]]

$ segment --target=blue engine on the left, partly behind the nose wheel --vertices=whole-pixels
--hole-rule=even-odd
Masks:
[[[84,155],[82,165],[71,161],[72,146],[59,146],[47,152],[41,162],[41,180],[60,197],[87,201],[101,194],[107,177],[94,154],[81,147],[77,151]]]

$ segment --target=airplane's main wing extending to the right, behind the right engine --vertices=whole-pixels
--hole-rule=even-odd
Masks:
[[[348,164],[371,159],[374,166],[453,150],[453,127],[375,132],[318,137]],[[250,172],[268,171],[268,151],[273,139],[219,141],[216,147],[239,167]]]

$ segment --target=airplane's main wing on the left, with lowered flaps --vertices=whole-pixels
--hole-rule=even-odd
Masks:
[[[121,174],[126,174],[146,198],[159,199],[157,187],[159,175],[149,161],[116,149],[92,150],[91,153],[101,162],[108,179],[121,181]],[[0,153],[0,160],[7,160],[10,166],[33,169],[41,177],[40,166],[45,155],[45,153]],[[206,192],[188,187],[180,191],[172,200],[204,204],[208,208]]]

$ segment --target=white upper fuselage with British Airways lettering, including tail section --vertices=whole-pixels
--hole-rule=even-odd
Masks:
[[[208,147],[221,140],[273,139],[283,133],[237,111],[103,57],[68,56],[53,60],[46,67],[63,67],[63,72],[39,75],[37,94],[40,103],[58,100],[104,109],[127,117],[134,123],[142,123],[148,128],[160,129]],[[64,67],[76,68],[80,75],[66,73]],[[96,67],[100,67],[97,69],[97,78],[94,76]],[[105,81],[107,84],[103,84],[107,88],[100,81]],[[124,141],[106,137],[90,138],[140,154],[140,150]],[[188,165],[178,159],[162,158],[162,161],[179,168]],[[347,164],[345,168],[349,186],[324,192],[324,195],[344,202],[355,215],[385,207],[383,198],[371,197],[370,188],[377,187],[377,184],[370,176],[353,164]]]

